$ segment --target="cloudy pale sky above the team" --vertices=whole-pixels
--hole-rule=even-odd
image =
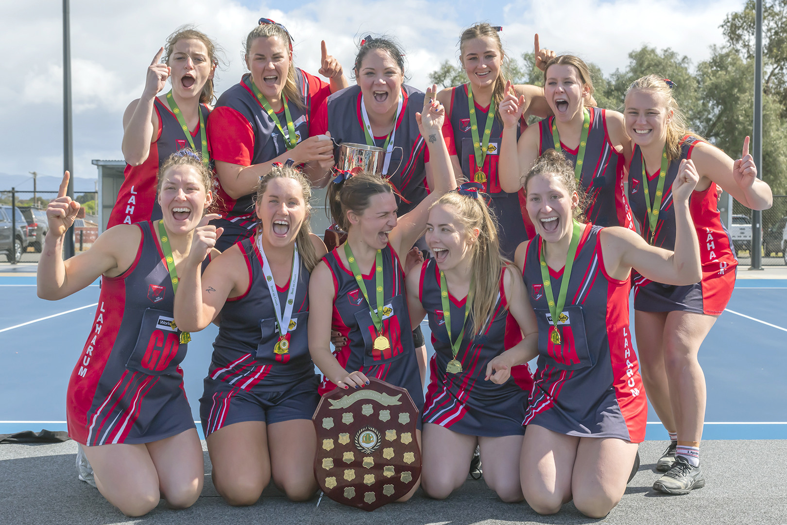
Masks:
[[[224,48],[216,91],[244,71],[242,45],[259,17],[286,25],[295,62],[316,74],[320,40],[346,68],[356,43],[368,33],[395,35],[407,53],[410,83],[423,89],[430,71],[456,60],[463,28],[487,20],[502,25],[510,54],[541,46],[578,54],[604,73],[625,68],[630,50],[643,44],[671,47],[694,64],[722,43],[719,24],[743,0],[71,0],[75,175],[95,177],[91,159],[122,159],[122,115],[142,93],[146,67],[164,39],[181,24],[196,24]],[[290,3],[290,2],[286,2]],[[297,2],[291,2],[296,4]],[[162,9],[162,6],[167,6]],[[0,83],[0,172],[37,171],[57,176],[62,160],[61,2],[3,2],[0,49],[6,59]]]

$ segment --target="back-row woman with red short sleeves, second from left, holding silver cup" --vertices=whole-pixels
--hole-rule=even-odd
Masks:
[[[292,159],[320,176],[333,165],[331,141],[310,136],[309,124],[325,98],[346,87],[347,79],[324,41],[321,64],[320,74],[330,83],[295,67],[290,33],[268,18],[260,18],[246,36],[249,73],[220,96],[208,121],[220,184],[222,218],[216,226],[224,227],[221,250],[253,235],[252,198],[273,162]]]

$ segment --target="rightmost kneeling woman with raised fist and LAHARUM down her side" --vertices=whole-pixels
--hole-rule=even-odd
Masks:
[[[600,518],[615,507],[645,438],[647,402],[629,328],[631,268],[660,283],[700,279],[689,214],[697,182],[691,161],[672,185],[675,250],[634,231],[582,224],[582,191],[560,153],[541,156],[525,178],[538,236],[516,262],[538,320],[538,370],[522,445],[525,499],[541,514],[567,501]]]

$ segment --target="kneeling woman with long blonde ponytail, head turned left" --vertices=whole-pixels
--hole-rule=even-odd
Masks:
[[[413,325],[429,317],[435,351],[423,409],[423,490],[444,498],[462,486],[478,445],[486,484],[503,501],[520,501],[527,392],[510,371],[538,355],[538,327],[518,272],[500,255],[481,189],[466,183],[435,203],[426,235],[435,258],[407,276]],[[509,311],[525,336],[506,350]]]

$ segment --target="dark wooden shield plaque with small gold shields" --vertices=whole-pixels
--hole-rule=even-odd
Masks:
[[[327,497],[372,511],[405,496],[421,475],[418,417],[407,390],[375,378],[323,395],[314,475]]]

